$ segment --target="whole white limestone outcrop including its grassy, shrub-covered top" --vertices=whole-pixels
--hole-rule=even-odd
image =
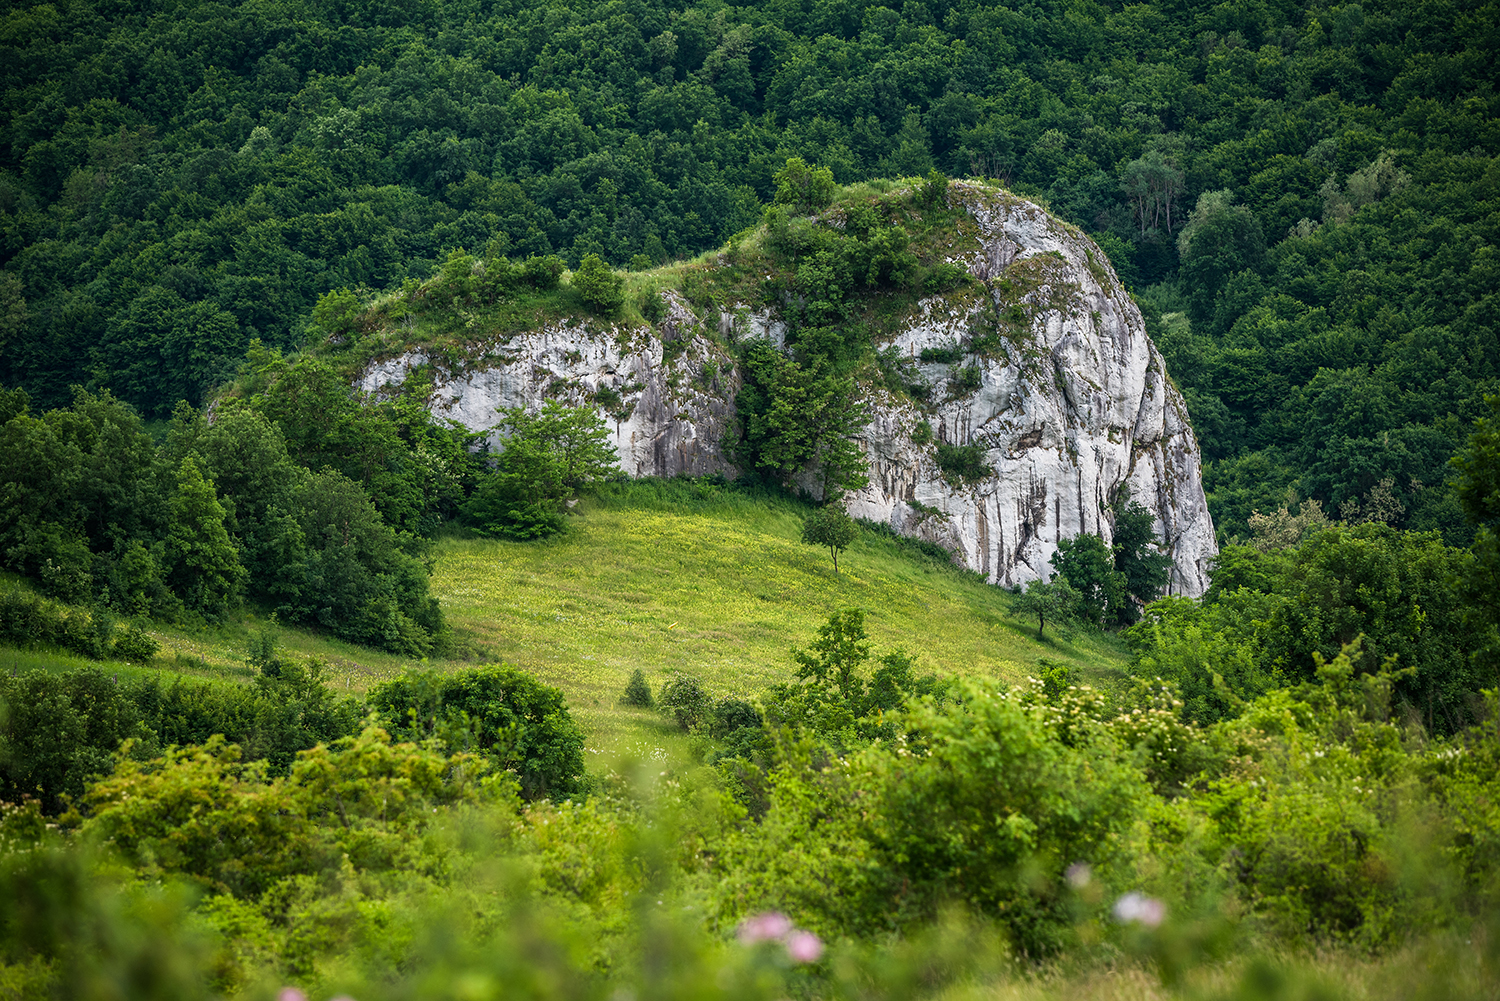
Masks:
[[[506,291],[486,311],[458,291],[454,260],[376,302],[338,351],[366,392],[420,384],[435,414],[474,431],[501,407],[592,405],[621,468],[674,476],[754,468],[740,447],[744,390],[776,393],[782,378],[756,371],[760,344],[798,371],[856,380],[854,444],[870,477],[852,513],[1011,585],[1050,576],[1064,539],[1110,540],[1128,494],[1155,515],[1172,590],[1203,591],[1216,546],[1186,407],[1082,231],[970,182],[882,182],[778,212],[717,255],[633,276],[654,323],[630,309],[526,315]],[[500,267],[472,261],[468,285]],[[788,407],[812,408],[802,399]],[[820,476],[810,459],[794,480],[818,495]]]

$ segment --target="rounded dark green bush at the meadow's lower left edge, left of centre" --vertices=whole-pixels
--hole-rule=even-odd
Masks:
[[[435,737],[448,753],[477,753],[514,773],[526,798],[582,791],[584,734],[562,692],[524,671],[408,672],[372,690],[369,701],[394,735]]]

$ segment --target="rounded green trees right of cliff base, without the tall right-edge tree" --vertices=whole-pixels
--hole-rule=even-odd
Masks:
[[[1128,632],[1140,672],[1182,687],[1202,722],[1238,714],[1270,687],[1311,680],[1316,657],[1347,657],[1364,674],[1395,665],[1395,705],[1454,734],[1496,683],[1474,642],[1466,582],[1473,554],[1436,533],[1382,524],[1334,525],[1296,548],[1226,546],[1202,605],[1162,599]]]

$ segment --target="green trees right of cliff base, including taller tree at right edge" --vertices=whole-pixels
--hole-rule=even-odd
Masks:
[[[1500,681],[1500,396],[1454,462],[1452,503],[1474,543],[1330,521],[1317,501],[1251,518],[1214,561],[1202,602],[1168,597],[1126,630],[1134,669],[1178,684],[1209,725],[1268,692],[1312,683],[1342,656],[1390,711],[1456,734]]]

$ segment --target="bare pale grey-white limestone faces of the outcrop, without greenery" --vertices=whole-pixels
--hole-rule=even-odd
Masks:
[[[922,300],[878,345],[888,359],[894,348],[927,402],[867,390],[870,485],[849,497],[849,513],[936,542],[1011,585],[1050,576],[1059,539],[1110,540],[1112,504],[1128,488],[1156,518],[1174,561],[1172,593],[1202,594],[1216,546],[1197,440],[1104,254],[1005,192],[954,183],[950,203],[962,203],[978,231],[976,248],[951,260],[980,281]],[[740,378],[720,342],[778,345],[784,327],[768,312],[730,308],[714,332],[672,297],[656,329],[596,323],[516,335],[482,345],[464,371],[435,372],[434,410],[482,429],[496,407],[592,402],[627,473],[732,476]],[[387,359],[360,386],[399,384],[426,362],[420,351]],[[938,446],[978,446],[987,474],[945,476]]]

